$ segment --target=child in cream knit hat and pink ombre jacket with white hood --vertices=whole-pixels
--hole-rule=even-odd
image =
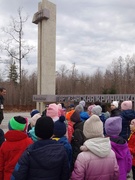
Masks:
[[[103,123],[97,115],[84,122],[83,133],[87,140],[81,146],[71,180],[118,180],[119,167],[109,138],[104,138]]]

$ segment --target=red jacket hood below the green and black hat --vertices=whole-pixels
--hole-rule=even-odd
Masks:
[[[27,138],[27,134],[22,131],[9,130],[5,134],[5,139],[10,142],[20,141],[25,138]]]

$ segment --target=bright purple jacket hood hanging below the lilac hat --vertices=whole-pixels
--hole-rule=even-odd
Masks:
[[[127,142],[124,144],[117,144],[111,141],[112,150],[115,152],[117,159],[125,159],[128,153],[128,145]]]

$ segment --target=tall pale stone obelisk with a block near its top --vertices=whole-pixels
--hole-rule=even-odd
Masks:
[[[37,95],[55,95],[56,5],[42,0],[33,23],[38,24]],[[43,102],[37,102],[40,112],[44,108]]]

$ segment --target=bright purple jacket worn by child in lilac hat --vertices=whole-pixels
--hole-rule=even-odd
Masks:
[[[132,167],[132,157],[127,142],[122,137],[110,137],[112,150],[119,165],[119,180],[126,180]]]

